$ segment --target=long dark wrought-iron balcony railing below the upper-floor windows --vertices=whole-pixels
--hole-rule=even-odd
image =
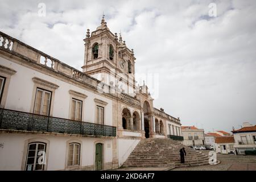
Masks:
[[[115,137],[116,127],[0,109],[0,129]]]

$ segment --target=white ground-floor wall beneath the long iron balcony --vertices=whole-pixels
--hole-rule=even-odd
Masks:
[[[99,138],[85,137],[53,137],[35,134],[0,134],[0,170],[21,170],[25,141],[33,138],[49,140],[49,154],[47,170],[65,169],[67,141],[71,139],[80,140],[81,143],[81,166],[94,165],[94,142]],[[112,140],[100,139],[104,143],[104,163],[112,162]]]

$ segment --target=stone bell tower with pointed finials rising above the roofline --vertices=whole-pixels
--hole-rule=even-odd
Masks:
[[[90,35],[86,32],[84,65],[82,70],[105,84],[121,86],[121,91],[131,93],[135,88],[135,57],[133,49],[126,47],[121,34],[113,34],[105,22],[104,15],[101,25]],[[114,80],[114,81],[113,81]]]

